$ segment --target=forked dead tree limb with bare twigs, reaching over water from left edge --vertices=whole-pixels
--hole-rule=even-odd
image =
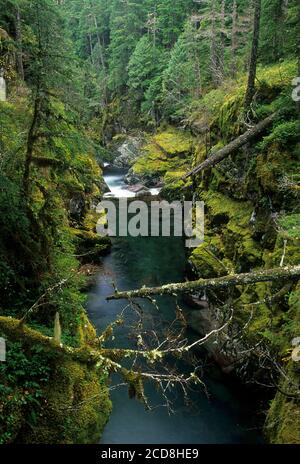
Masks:
[[[176,372],[158,372],[153,369],[142,371],[140,368],[133,369],[133,366],[132,368],[127,368],[121,364],[121,361],[125,358],[136,358],[139,356],[146,361],[150,368],[169,354],[181,356],[192,350],[196,345],[204,344],[210,337],[217,335],[219,332],[224,330],[230,324],[231,320],[232,317],[222,327],[211,331],[197,342],[188,344],[187,340],[185,340],[182,344],[179,344],[177,348],[163,350],[160,350],[160,347],[152,350],[141,351],[132,349],[105,349],[101,347],[95,348],[93,345],[73,348],[57,343],[53,338],[46,337],[26,325],[21,326],[18,319],[3,316],[0,316],[0,333],[8,337],[9,340],[21,340],[27,344],[27,346],[39,345],[40,347],[43,347],[45,352],[56,353],[57,356],[68,357],[73,361],[94,366],[94,368],[99,369],[100,371],[105,370],[109,373],[119,374],[129,386],[130,395],[133,395],[139,401],[143,402],[147,408],[150,408],[144,392],[145,381],[148,380],[156,383],[157,387],[161,390],[163,397],[166,399],[167,405],[169,405],[166,391],[171,385],[179,384],[183,389],[185,396],[187,395],[188,385],[198,383],[204,385],[197,376],[197,369],[194,372],[191,372],[190,375],[186,376]],[[95,341],[97,342],[97,340]]]

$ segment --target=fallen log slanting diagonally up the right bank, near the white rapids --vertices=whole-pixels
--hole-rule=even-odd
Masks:
[[[263,121],[260,121],[256,126],[252,127],[247,132],[240,135],[237,139],[233,140],[228,145],[221,148],[221,150],[212,153],[209,158],[207,158],[205,161],[203,161],[203,163],[199,164],[197,167],[185,174],[185,176],[183,176],[182,179],[185,180],[190,176],[198,174],[204,169],[216,166],[216,164],[223,161],[223,159],[227,158],[229,155],[236,152],[243,145],[246,145],[247,143],[251,142],[252,139],[261,134],[261,132],[263,132],[274,121],[277,115],[278,113],[271,114],[271,116],[268,116]]]

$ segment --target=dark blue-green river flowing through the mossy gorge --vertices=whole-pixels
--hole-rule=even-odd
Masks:
[[[124,172],[107,169],[105,180],[117,196],[131,196],[123,181]],[[178,237],[113,239],[110,255],[102,260],[98,283],[88,299],[89,317],[99,332],[107,327],[122,311],[125,303],[107,302],[113,293],[112,282],[119,290],[157,286],[184,280],[185,249]],[[175,303],[170,297],[159,300],[158,312],[144,303],[145,312],[158,331],[175,318]],[[129,316],[130,319],[130,316]],[[132,347],[127,326],[118,329],[111,346]],[[188,372],[189,367],[180,368]],[[174,414],[169,415],[161,395],[151,384],[146,393],[152,411],[134,399],[129,399],[128,388],[114,386],[122,383],[118,376],[112,378],[111,398],[113,412],[105,428],[103,444],[239,444],[262,442],[261,432],[254,414],[253,401],[247,392],[221,374],[204,374],[208,395],[200,386],[190,393],[186,405],[179,388],[170,398]]]

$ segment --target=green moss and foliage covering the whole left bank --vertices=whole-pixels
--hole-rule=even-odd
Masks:
[[[54,314],[59,312],[65,345],[84,351],[95,339],[74,255],[96,252],[99,257],[110,241],[97,235],[92,212],[83,224],[72,223],[70,231],[68,210],[75,193],[80,193],[87,211],[100,198],[102,172],[85,127],[54,92],[47,96],[47,114],[42,112],[47,121],[42,117],[38,128],[49,137],[35,140],[25,199],[20,166],[33,108],[25,84],[18,85],[15,94],[13,85],[11,102],[0,103],[0,274],[5,272],[5,279],[0,278],[1,310],[21,318],[43,297],[39,311],[28,319],[40,333],[20,328],[16,320],[1,320],[10,362],[0,363],[0,443],[98,442],[111,410],[106,373],[71,361],[42,333],[52,336]]]

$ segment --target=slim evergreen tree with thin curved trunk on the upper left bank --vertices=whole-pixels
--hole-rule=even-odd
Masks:
[[[33,89],[33,116],[28,131],[23,190],[29,193],[30,168],[36,146],[41,141],[49,143],[52,134],[49,131],[51,118],[56,119],[53,97],[58,97],[59,88],[64,79],[68,79],[67,67],[70,56],[64,41],[63,22],[57,7],[51,0],[34,0],[26,7],[25,14],[30,21],[35,40],[27,47],[27,72]],[[46,126],[47,133],[42,132]],[[55,132],[57,129],[54,129]],[[42,135],[41,135],[42,132]]]

